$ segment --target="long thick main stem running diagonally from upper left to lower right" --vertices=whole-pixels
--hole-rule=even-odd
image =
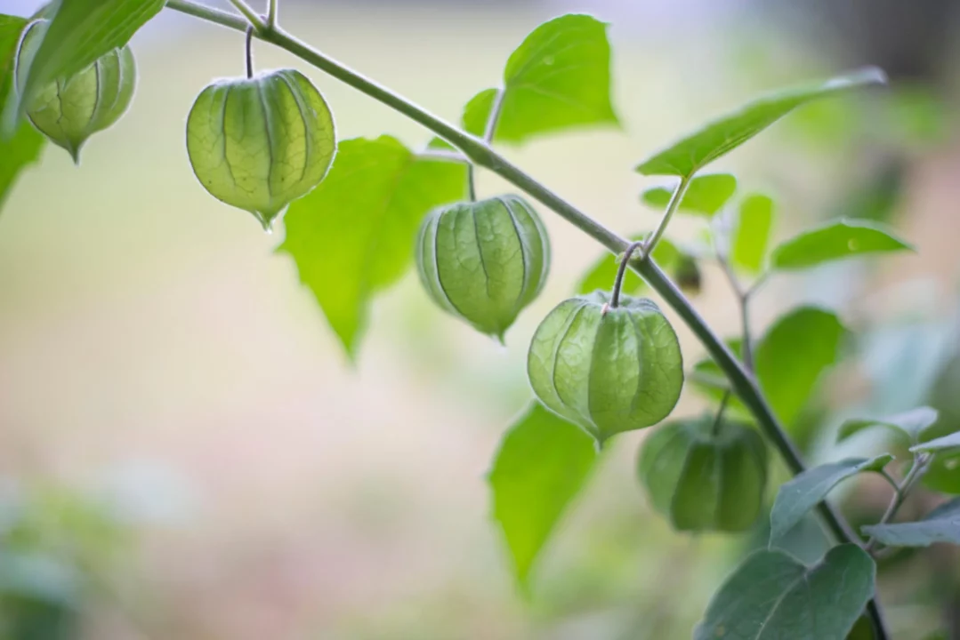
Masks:
[[[238,31],[245,31],[248,26],[248,22],[239,16],[210,9],[203,5],[197,5],[189,2],[189,0],[167,0],[167,7]],[[260,25],[263,25],[262,21]],[[264,41],[276,44],[276,46],[281,49],[286,50],[358,91],[367,94],[374,100],[394,108],[414,122],[433,131],[462,151],[471,162],[511,182],[532,198],[555,211],[568,223],[587,233],[588,236],[606,247],[613,254],[622,253],[629,247],[630,243],[626,239],[614,233],[607,226],[590,218],[574,205],[564,201],[563,198],[540,184],[536,179],[524,173],[505,157],[497,154],[492,150],[490,145],[480,138],[454,127],[442,118],[430,113],[425,108],[394,93],[382,84],[366,78],[336,59],[325,56],[320,51],[313,49],[296,37],[290,36],[279,29],[260,25],[257,25],[255,36]],[[681,320],[684,320],[684,323],[700,342],[704,344],[709,355],[730,379],[732,390],[740,397],[751,414],[754,415],[757,424],[763,430],[764,434],[766,434],[767,438],[770,439],[774,443],[774,446],[780,451],[780,456],[782,456],[784,462],[786,462],[791,473],[794,475],[802,473],[806,467],[800,452],[782,428],[780,428],[780,423],[777,421],[776,416],[773,414],[762,393],[757,388],[753,377],[740,365],[731,350],[727,348],[727,345],[710,330],[707,322],[704,321],[697,310],[690,305],[689,301],[673,282],[660,271],[660,267],[658,267],[653,260],[649,259],[649,256],[635,258],[630,262],[630,267],[636,273],[639,273],[639,275],[646,280],[647,284],[660,294],[666,304],[680,316]],[[837,540],[859,544],[859,538],[856,533],[853,533],[850,525],[847,524],[846,520],[833,510],[828,503],[821,502],[817,510]],[[874,620],[878,640],[888,640],[889,636],[885,631],[882,621],[880,621],[879,607],[876,605],[876,601],[872,601],[871,604],[868,605],[868,612]]]

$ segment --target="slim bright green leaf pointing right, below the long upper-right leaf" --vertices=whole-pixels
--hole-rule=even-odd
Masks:
[[[865,220],[841,220],[801,233],[774,249],[771,264],[780,271],[815,267],[868,253],[915,250],[893,229]]]

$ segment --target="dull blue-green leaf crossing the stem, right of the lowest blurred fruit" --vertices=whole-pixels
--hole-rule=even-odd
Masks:
[[[890,454],[876,458],[848,458],[821,464],[795,476],[780,486],[774,507],[770,510],[770,544],[789,532],[807,511],[827,498],[830,490],[861,471],[879,471],[894,459]]]

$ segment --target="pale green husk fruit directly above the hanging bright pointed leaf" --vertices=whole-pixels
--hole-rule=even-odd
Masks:
[[[572,297],[534,334],[527,375],[540,401],[603,443],[657,424],[684,386],[677,334],[647,298]]]

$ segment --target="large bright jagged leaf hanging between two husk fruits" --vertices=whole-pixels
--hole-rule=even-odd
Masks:
[[[286,240],[303,282],[353,358],[371,297],[406,273],[420,220],[461,200],[464,165],[418,159],[395,138],[354,138],[324,181],[290,205]]]

